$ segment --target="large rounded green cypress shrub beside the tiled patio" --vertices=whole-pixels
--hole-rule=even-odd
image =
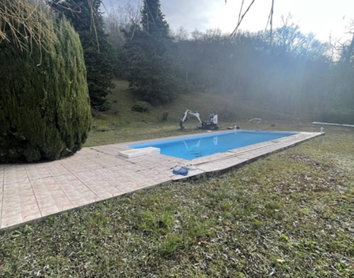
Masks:
[[[68,21],[43,11],[54,43],[38,45],[23,38],[29,50],[23,51],[11,41],[0,42],[1,163],[70,155],[81,148],[90,129],[79,37]]]

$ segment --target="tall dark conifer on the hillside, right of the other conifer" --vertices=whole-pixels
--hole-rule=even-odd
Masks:
[[[167,103],[181,91],[175,45],[159,0],[145,0],[141,25],[131,26],[125,44],[128,80],[150,103]]]

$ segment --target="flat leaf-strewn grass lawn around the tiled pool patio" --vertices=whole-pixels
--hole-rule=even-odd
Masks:
[[[139,125],[93,131],[87,144],[178,132],[173,124]],[[170,182],[0,232],[0,276],[352,277],[354,129],[325,130],[218,177]]]

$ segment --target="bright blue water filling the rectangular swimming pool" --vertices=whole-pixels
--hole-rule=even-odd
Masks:
[[[156,147],[160,148],[161,154],[191,160],[206,155],[223,153],[232,149],[275,140],[293,134],[296,134],[296,132],[232,130],[141,143],[129,145],[128,147],[134,149]]]

